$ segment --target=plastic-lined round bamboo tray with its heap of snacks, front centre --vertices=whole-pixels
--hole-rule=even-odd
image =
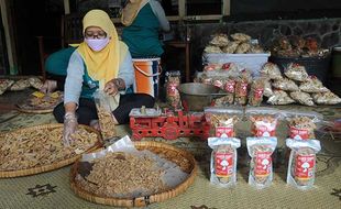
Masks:
[[[70,187],[91,202],[143,207],[184,193],[196,175],[190,153],[124,136],[106,150],[84,154],[72,168]]]

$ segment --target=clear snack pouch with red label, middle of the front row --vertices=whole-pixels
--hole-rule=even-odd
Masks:
[[[272,184],[272,154],[276,145],[277,138],[246,138],[248,153],[251,156],[249,185],[262,189]]]

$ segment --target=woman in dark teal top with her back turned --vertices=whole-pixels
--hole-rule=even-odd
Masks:
[[[158,31],[170,30],[165,11],[156,0],[127,0],[122,24],[125,26],[122,41],[128,45],[133,58],[153,57],[164,53],[158,40]]]

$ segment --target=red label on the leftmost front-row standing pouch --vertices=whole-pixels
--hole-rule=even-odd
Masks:
[[[217,176],[231,176],[233,174],[233,154],[216,153],[215,165]]]

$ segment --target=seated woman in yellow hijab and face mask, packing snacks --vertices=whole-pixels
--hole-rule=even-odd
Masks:
[[[128,47],[119,41],[109,15],[102,10],[89,11],[82,19],[82,33],[84,42],[72,54],[67,67],[64,105],[54,109],[56,120],[64,122],[65,141],[70,140],[78,123],[92,124],[97,121],[92,98],[97,89],[120,98],[112,111],[117,124],[129,122],[131,109],[154,106],[152,96],[124,95],[133,84],[134,70]]]

